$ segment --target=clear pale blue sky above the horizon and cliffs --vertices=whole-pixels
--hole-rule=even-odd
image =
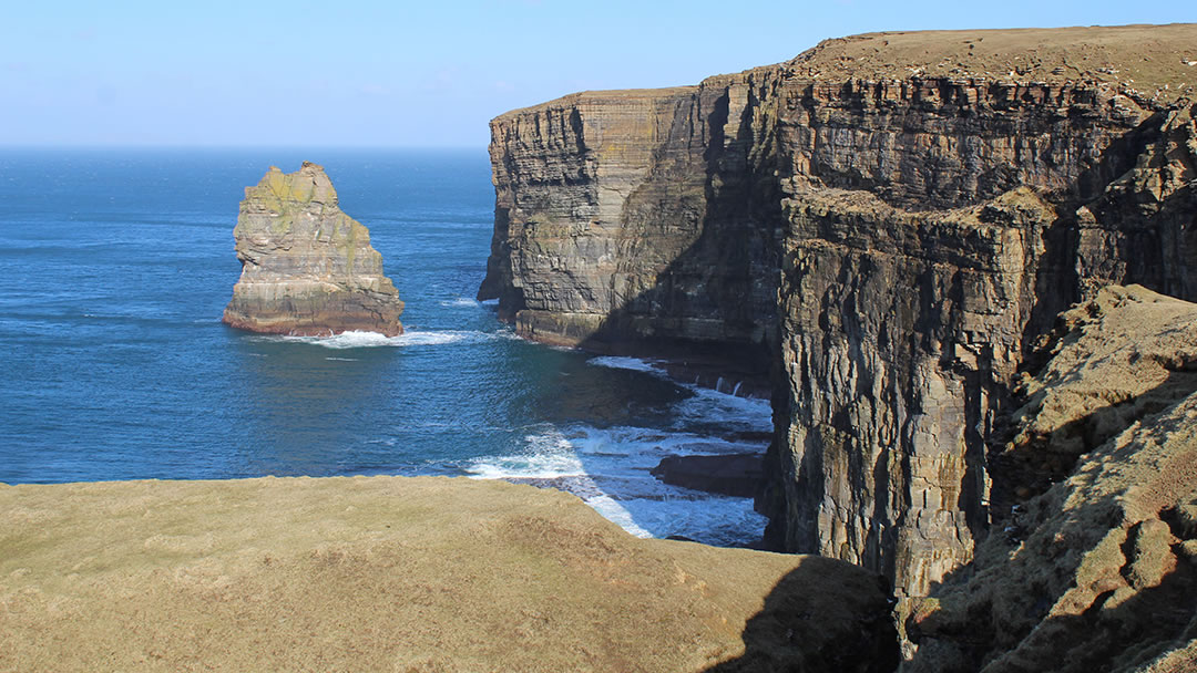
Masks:
[[[7,2],[0,146],[484,147],[581,90],[697,84],[877,30],[1197,20],[1191,0]]]

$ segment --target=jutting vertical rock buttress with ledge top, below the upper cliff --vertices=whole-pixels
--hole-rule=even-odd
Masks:
[[[1028,189],[936,213],[796,196],[773,455],[791,478],[773,532],[918,595],[971,558],[986,522],[984,440],[1055,212]]]

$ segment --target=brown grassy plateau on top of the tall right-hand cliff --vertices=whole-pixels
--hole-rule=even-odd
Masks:
[[[782,67],[831,80],[1098,81],[1167,102],[1197,85],[1197,24],[871,32],[826,39]]]

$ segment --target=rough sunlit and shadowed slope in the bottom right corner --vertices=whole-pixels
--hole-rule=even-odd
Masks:
[[[1047,472],[1087,453],[915,601],[904,671],[1197,667],[1197,305],[1110,287],[1052,351],[1007,451]]]

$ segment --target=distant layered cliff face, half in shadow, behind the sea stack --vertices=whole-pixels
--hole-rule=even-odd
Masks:
[[[582,93],[494,120],[479,298],[549,343],[764,351],[779,203],[758,194],[776,191],[757,173],[762,78]]]

